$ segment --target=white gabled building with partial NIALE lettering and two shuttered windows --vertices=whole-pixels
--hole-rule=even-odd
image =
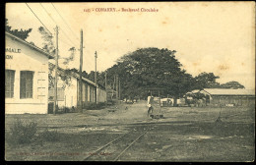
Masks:
[[[47,113],[48,59],[53,57],[9,32],[5,39],[5,113]]]

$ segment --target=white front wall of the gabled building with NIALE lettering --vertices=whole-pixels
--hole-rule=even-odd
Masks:
[[[6,35],[6,48],[21,49],[21,53],[6,52],[13,59],[5,60],[5,69],[15,70],[14,97],[5,98],[6,114],[46,114],[48,99],[48,57]],[[20,72],[33,71],[32,98],[20,99]]]

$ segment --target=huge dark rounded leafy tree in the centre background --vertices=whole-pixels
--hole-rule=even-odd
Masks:
[[[192,76],[182,70],[175,58],[176,51],[141,48],[125,54],[109,68],[108,84],[118,75],[122,96],[145,97],[149,88],[163,88],[161,95],[180,96],[192,88]]]

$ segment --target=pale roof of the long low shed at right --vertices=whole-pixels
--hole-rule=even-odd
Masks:
[[[204,88],[211,95],[255,95],[253,89]]]

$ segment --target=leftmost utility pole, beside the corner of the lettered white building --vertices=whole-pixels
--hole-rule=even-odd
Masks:
[[[58,34],[59,34],[59,31],[58,31],[58,27],[56,26],[55,28],[56,30],[56,50],[55,50],[55,81],[54,81],[54,104],[53,104],[53,114],[55,115],[56,114],[56,109],[57,109],[57,89],[58,89],[58,86],[57,86],[57,83],[58,83]]]

